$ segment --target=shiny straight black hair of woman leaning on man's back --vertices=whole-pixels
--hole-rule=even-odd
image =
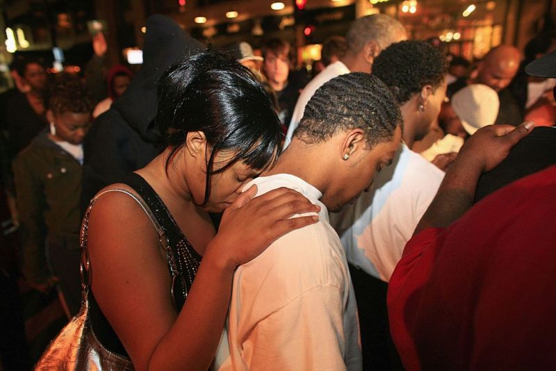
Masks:
[[[156,124],[171,147],[165,166],[186,143],[187,133],[202,131],[212,147],[206,161],[203,204],[211,194],[211,176],[237,161],[264,170],[281,145],[279,119],[247,67],[223,53],[190,56],[168,69],[158,83]],[[218,151],[234,151],[226,165],[213,169]]]

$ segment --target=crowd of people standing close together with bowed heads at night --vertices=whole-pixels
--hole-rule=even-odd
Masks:
[[[312,79],[286,40],[207,50],[162,15],[136,74],[93,47],[84,78],[15,63],[0,212],[120,367],[555,367],[555,35],[468,61],[369,15]]]

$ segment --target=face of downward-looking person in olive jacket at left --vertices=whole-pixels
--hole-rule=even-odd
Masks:
[[[83,142],[91,123],[90,113],[65,112],[54,115],[49,111],[48,117],[51,122],[54,122],[56,128],[54,139],[64,140],[72,145]]]

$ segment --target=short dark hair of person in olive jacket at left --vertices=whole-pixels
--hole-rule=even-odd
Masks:
[[[54,115],[65,112],[91,113],[92,101],[90,100],[85,83],[79,76],[72,74],[59,74],[49,92],[48,108]]]

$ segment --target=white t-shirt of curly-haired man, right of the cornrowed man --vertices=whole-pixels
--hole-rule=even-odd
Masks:
[[[330,215],[347,261],[388,282],[443,177],[442,170],[402,145],[369,192]]]

